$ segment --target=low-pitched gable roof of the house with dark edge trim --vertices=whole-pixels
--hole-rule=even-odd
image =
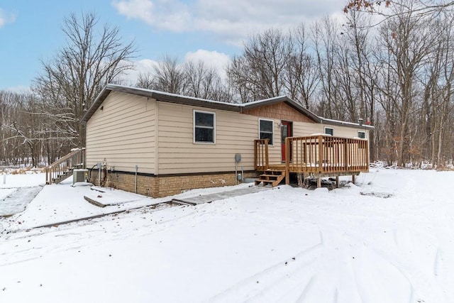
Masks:
[[[222,109],[225,111],[237,111],[242,113],[248,109],[255,109],[260,106],[277,104],[280,102],[284,102],[285,104],[291,106],[293,109],[296,109],[301,114],[309,117],[312,121],[316,123],[326,123],[331,125],[338,125],[338,126],[360,126],[358,123],[350,123],[344,121],[336,121],[331,119],[324,119],[316,114],[312,113],[308,109],[305,109],[303,106],[298,104],[297,102],[293,101],[287,96],[280,96],[274,97],[270,99],[263,99],[258,101],[252,101],[243,104],[234,104],[228,103],[223,101],[214,101],[208,99],[200,99],[194,97],[186,97],[179,94],[170,94],[167,92],[159,92],[153,89],[141,89],[138,87],[126,87],[123,85],[116,85],[116,84],[107,84],[106,87],[99,93],[98,97],[94,100],[92,106],[88,109],[88,111],[82,117],[81,123],[86,124],[87,121],[93,116],[94,112],[101,106],[102,102],[109,96],[111,92],[123,92],[127,94],[135,94],[137,96],[148,97],[152,99],[156,99],[157,101],[164,101],[176,104],[184,104],[190,106],[200,106],[206,107],[209,109]],[[373,126],[361,126],[362,128],[373,128]]]

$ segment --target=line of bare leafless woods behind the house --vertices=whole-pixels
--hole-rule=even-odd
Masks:
[[[386,13],[371,15],[381,2]],[[287,95],[327,119],[375,126],[371,160],[446,165],[454,158],[453,6],[352,3],[343,21],[326,17],[250,35],[225,76],[202,61],[165,55],[133,85],[242,103]],[[0,92],[1,161],[38,165],[84,146],[79,120],[96,95],[106,83],[128,84],[121,75],[137,50],[121,42],[118,28],[99,31],[97,20],[66,18],[67,45],[42,62],[32,92]]]

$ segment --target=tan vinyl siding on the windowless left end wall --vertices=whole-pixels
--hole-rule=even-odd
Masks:
[[[102,110],[101,110],[102,106]],[[87,122],[87,167],[155,173],[156,101],[112,92]]]

